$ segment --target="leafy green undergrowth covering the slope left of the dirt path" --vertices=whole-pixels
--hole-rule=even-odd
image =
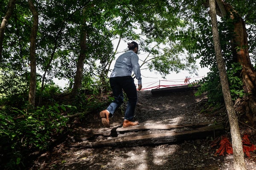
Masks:
[[[0,105],[0,169],[26,169],[38,153],[50,150],[67,135],[76,119],[66,116],[79,114],[84,119],[90,112],[105,107],[110,98],[94,94],[44,96],[41,106],[29,107],[13,100]],[[102,102],[103,100],[103,102]],[[15,104],[15,105],[14,105]],[[56,139],[57,138],[57,139]]]

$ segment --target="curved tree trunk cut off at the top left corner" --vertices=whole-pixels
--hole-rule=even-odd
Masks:
[[[4,30],[6,28],[9,18],[12,16],[14,6],[15,6],[15,0],[10,0],[8,10],[6,12],[6,16],[3,17],[3,20],[0,26],[0,61],[2,60]]]

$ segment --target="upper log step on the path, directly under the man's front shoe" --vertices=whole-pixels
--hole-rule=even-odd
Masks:
[[[99,128],[99,129],[74,129],[73,133],[75,134],[75,138],[78,141],[83,141],[92,138],[93,136],[112,136],[116,137],[118,133],[127,133],[127,132],[137,132],[137,131],[145,131],[145,130],[170,130],[174,128],[198,128],[202,126],[211,125],[210,122],[202,122],[202,123],[191,123],[191,124],[178,124],[178,125],[139,125],[134,127],[122,127],[114,126],[111,128]]]

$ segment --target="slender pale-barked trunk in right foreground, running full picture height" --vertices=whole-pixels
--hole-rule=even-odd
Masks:
[[[242,140],[239,131],[238,118],[233,106],[230,89],[228,85],[227,72],[225,69],[225,62],[221,54],[221,45],[218,35],[217,17],[215,11],[215,0],[209,0],[210,17],[212,22],[212,35],[214,42],[214,50],[216,61],[218,64],[218,71],[221,79],[222,93],[227,109],[227,114],[230,122],[230,132],[232,138],[233,156],[234,156],[234,170],[246,170],[244,162],[244,152],[242,146]]]

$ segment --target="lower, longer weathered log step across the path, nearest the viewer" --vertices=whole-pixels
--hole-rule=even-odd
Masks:
[[[70,147],[135,147],[156,144],[173,144],[184,140],[204,139],[207,136],[219,136],[224,132],[224,126],[219,123],[206,127],[199,127],[194,130],[178,133],[154,133],[140,136],[121,136],[97,142],[82,142],[71,144]]]

